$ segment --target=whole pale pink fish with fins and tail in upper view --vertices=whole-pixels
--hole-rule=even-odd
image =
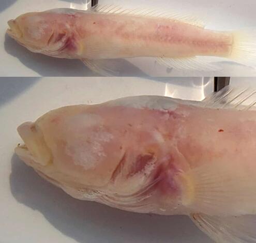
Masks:
[[[105,76],[119,75],[119,59],[133,57],[180,70],[219,70],[208,56],[256,66],[256,28],[213,31],[187,13],[97,5],[25,13],[8,25],[7,34],[29,51],[81,59]]]

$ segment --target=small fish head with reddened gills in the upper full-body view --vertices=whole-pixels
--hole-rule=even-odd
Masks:
[[[69,58],[77,51],[72,21],[73,17],[63,13],[30,12],[9,20],[7,34],[29,51]]]

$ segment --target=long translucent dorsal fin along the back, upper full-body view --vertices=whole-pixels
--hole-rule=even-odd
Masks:
[[[143,8],[134,8],[134,9],[124,9],[119,6],[115,5],[96,5],[92,8],[92,11],[98,13],[105,13],[105,14],[127,14],[131,16],[144,16],[144,17],[156,17],[162,19],[172,19],[176,21],[181,21],[184,23],[196,25],[199,27],[204,27],[205,17],[197,18],[188,13],[177,13],[173,11],[163,11],[158,9],[143,9]]]

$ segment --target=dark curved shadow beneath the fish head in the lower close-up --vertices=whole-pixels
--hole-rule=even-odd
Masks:
[[[81,243],[212,242],[186,216],[134,214],[72,199],[16,155],[11,161],[10,187],[19,203],[40,211],[57,230]]]

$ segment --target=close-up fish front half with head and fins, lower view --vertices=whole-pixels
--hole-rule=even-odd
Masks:
[[[21,124],[15,152],[75,199],[186,215],[216,242],[254,242],[255,100],[256,90],[225,87],[203,101],[69,105]]]

